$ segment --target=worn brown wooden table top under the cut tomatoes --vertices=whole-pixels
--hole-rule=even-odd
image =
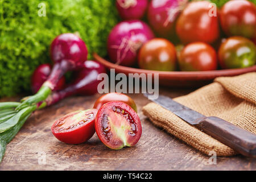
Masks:
[[[191,91],[161,89],[160,93],[174,98]],[[71,111],[89,109],[98,95],[71,97],[36,111],[28,119],[7,145],[0,170],[256,170],[256,159],[240,155],[218,157],[217,165],[209,165],[210,156],[152,125],[142,114],[142,107],[149,102],[146,98],[141,94],[130,96],[138,106],[143,127],[137,146],[110,150],[96,134],[84,144],[59,142],[50,130],[55,119]]]

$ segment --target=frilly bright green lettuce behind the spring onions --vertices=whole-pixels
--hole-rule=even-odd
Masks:
[[[38,5],[46,4],[46,16]],[[31,92],[35,68],[51,63],[49,46],[59,34],[79,32],[89,51],[106,56],[106,41],[119,16],[114,0],[1,0],[0,97]]]

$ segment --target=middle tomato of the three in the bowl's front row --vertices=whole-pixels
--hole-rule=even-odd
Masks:
[[[217,53],[209,44],[190,43],[180,52],[181,71],[211,71],[217,69]]]

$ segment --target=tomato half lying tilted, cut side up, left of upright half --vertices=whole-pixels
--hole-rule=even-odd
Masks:
[[[53,135],[68,144],[84,143],[95,133],[94,121],[97,109],[75,111],[57,119],[52,125]]]

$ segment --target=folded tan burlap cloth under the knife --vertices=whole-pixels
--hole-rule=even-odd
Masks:
[[[236,77],[218,77],[210,85],[177,97],[175,101],[206,116],[216,116],[256,134],[256,72]],[[209,154],[235,155],[232,148],[184,122],[158,104],[143,107],[143,113],[154,125]]]

